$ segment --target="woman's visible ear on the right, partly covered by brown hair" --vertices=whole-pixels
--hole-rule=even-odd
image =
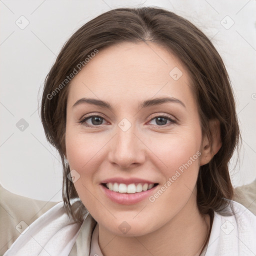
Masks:
[[[220,138],[220,123],[218,119],[212,119],[209,121],[210,130],[213,136],[212,148],[210,146],[210,141],[206,135],[202,138],[201,144],[201,159],[200,166],[208,163],[212,157],[218,152],[222,145]]]

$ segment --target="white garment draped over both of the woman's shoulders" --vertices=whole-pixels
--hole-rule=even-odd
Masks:
[[[214,212],[205,256],[256,254],[256,216],[243,205],[230,202],[234,215]],[[80,226],[73,223],[65,213],[63,202],[59,202],[24,230],[3,256],[89,256],[95,224],[89,213]]]

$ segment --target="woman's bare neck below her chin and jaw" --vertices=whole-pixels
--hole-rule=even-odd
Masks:
[[[210,216],[202,216],[189,200],[167,223],[144,235],[117,236],[99,225],[98,243],[104,256],[199,256],[209,230]]]

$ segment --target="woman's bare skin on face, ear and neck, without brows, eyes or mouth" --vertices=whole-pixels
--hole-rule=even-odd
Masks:
[[[178,67],[182,75],[174,80],[169,72]],[[202,137],[188,71],[170,51],[154,43],[122,42],[105,49],[71,80],[66,114],[66,158],[79,173],[75,189],[99,227],[98,243],[104,256],[199,255],[210,227],[208,215],[196,205],[199,166],[207,163],[221,146],[219,126],[212,150]],[[138,108],[146,99],[172,96],[176,102]],[[73,104],[82,97],[109,102],[112,111],[100,106]],[[88,113],[103,119],[79,123]],[[176,122],[157,116],[166,115]],[[126,118],[131,127],[123,131],[118,123]],[[94,121],[94,122],[92,122]],[[97,126],[97,127],[95,127]],[[146,178],[161,187],[189,157],[200,157],[154,201],[148,198],[131,205],[111,201],[100,189],[103,179],[122,176]],[[130,230],[123,234],[119,225]]]

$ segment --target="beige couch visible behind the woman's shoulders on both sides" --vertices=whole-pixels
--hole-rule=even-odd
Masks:
[[[235,188],[234,200],[256,215],[256,179],[248,185]],[[56,203],[20,196],[0,185],[0,255],[10,247],[26,225],[30,225]]]

